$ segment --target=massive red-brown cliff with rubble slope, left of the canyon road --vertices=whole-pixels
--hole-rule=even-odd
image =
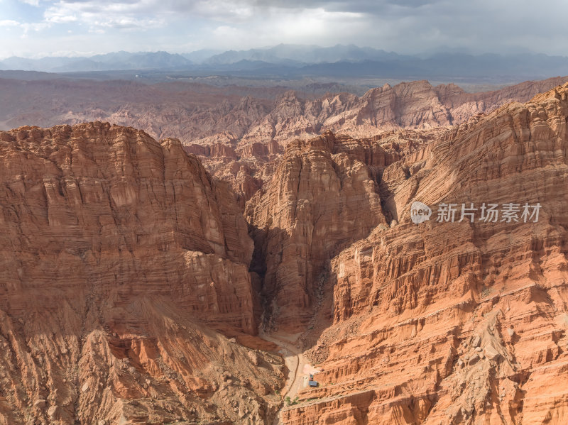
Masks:
[[[256,333],[226,184],[103,123],[2,132],[0,161],[1,424],[271,417],[280,358],[217,331]]]

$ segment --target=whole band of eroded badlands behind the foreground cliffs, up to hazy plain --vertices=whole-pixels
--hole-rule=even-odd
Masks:
[[[0,107],[0,126],[99,120],[141,128],[155,138],[179,138],[209,172],[231,183],[244,206],[271,180],[271,162],[290,140],[324,131],[370,138],[383,131],[450,126],[511,101],[528,101],[566,80],[555,77],[480,93],[415,81],[385,84],[364,96],[333,93],[313,99],[278,87],[0,79],[0,94],[9,105]]]

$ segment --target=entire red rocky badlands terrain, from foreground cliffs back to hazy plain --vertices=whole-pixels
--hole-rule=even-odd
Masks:
[[[0,80],[0,424],[566,424],[566,81]]]

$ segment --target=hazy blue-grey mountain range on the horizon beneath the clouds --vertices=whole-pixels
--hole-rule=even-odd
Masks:
[[[539,79],[568,74],[568,57],[521,53],[468,55],[437,53],[398,55],[356,45],[277,45],[251,50],[198,50],[116,52],[91,57],[9,57],[0,70],[43,72],[97,72],[118,70],[170,70],[193,74],[233,74],[266,77],[385,77],[435,79],[462,77],[516,77]]]

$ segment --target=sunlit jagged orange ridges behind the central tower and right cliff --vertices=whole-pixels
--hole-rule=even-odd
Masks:
[[[394,87],[386,84],[361,97],[341,93],[305,100],[287,92],[266,116],[251,123],[246,131],[211,133],[192,140],[187,149],[198,155],[213,175],[231,182],[243,205],[256,190],[271,181],[275,164],[290,140],[311,138],[324,131],[354,138],[376,138],[401,128],[420,130],[415,136],[420,138],[421,133],[429,133],[425,129],[464,123],[511,101],[528,101],[566,79],[524,82],[481,93],[466,93],[455,84],[433,87],[427,81],[403,82]],[[240,109],[239,114],[242,114]],[[244,120],[236,115],[234,122]]]

